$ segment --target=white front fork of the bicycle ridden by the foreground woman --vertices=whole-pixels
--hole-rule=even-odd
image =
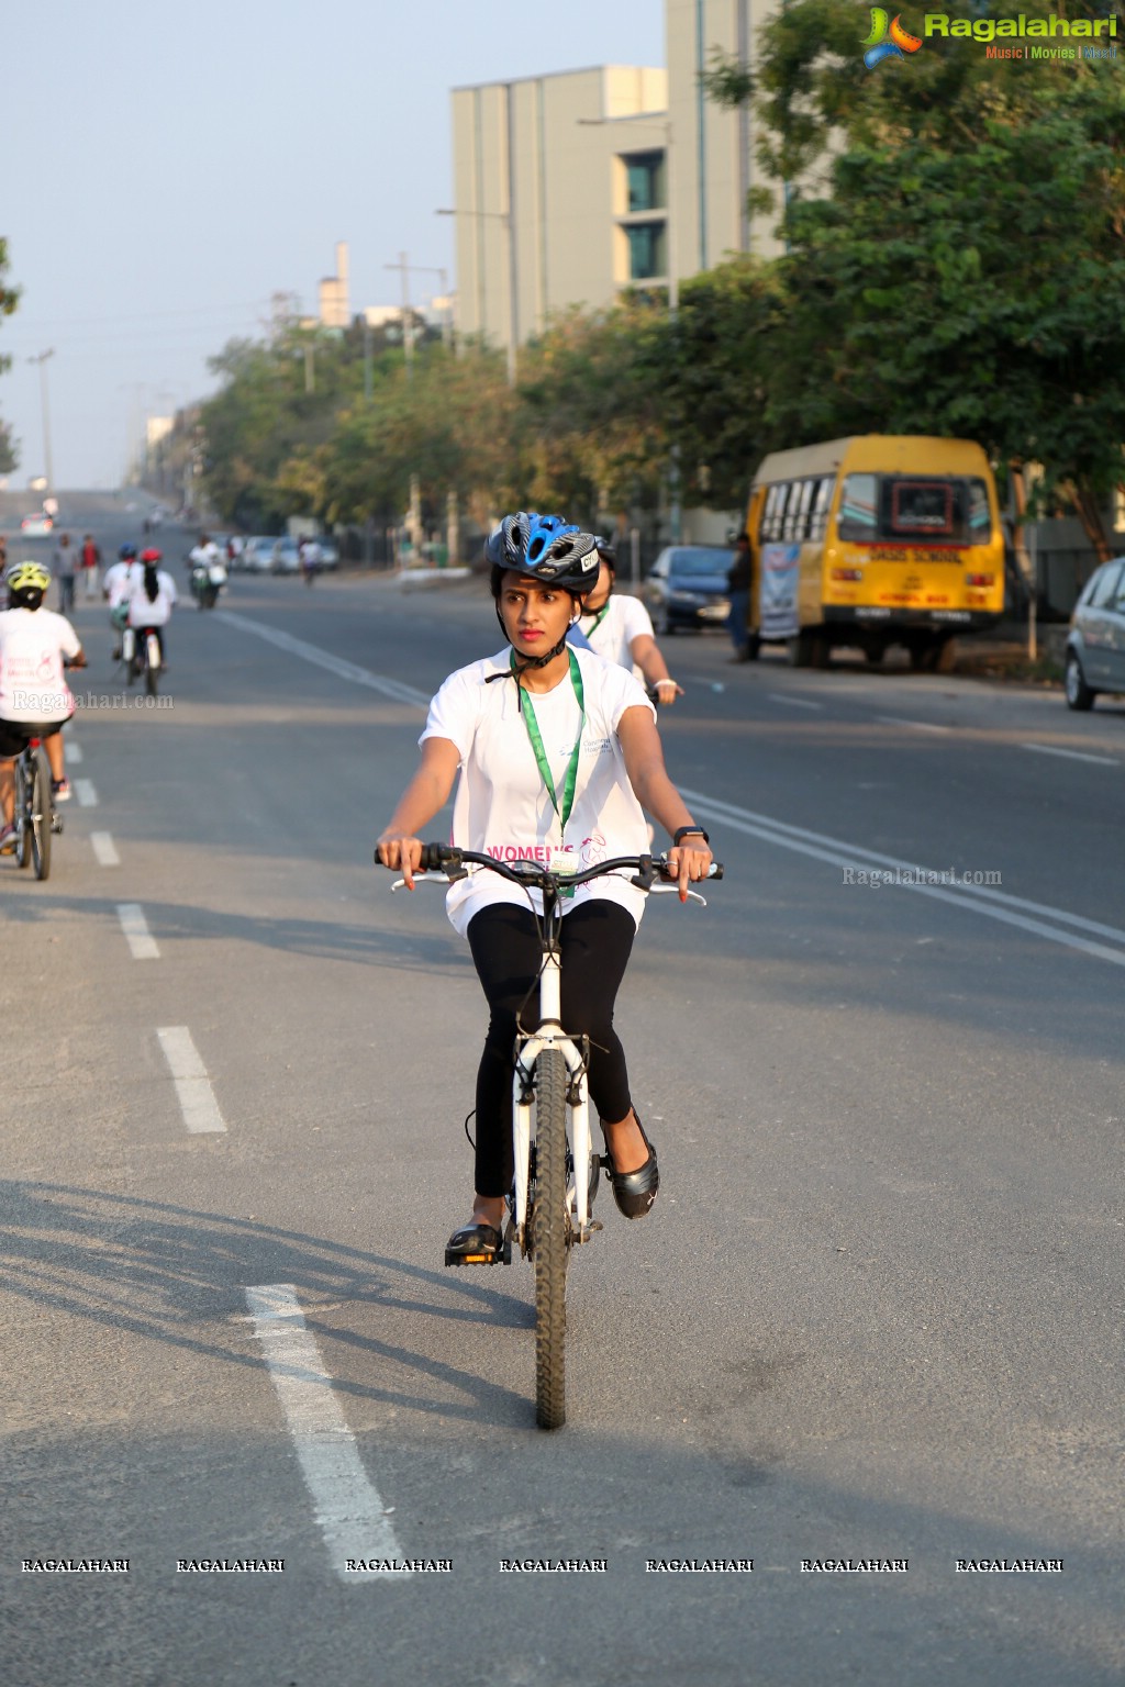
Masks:
[[[535,1095],[535,1068],[545,1049],[558,1049],[567,1063],[567,1095],[570,1103],[572,1178],[567,1203],[572,1210],[573,1242],[589,1242],[595,1228],[590,1225],[590,1102],[585,1078],[585,1056],[562,1029],[562,958],[555,943],[543,955],[540,970],[540,1029],[521,1036],[516,1046],[513,1078],[513,1139],[516,1156],[516,1240],[526,1253],[528,1235],[528,1169],[531,1159],[531,1098]]]

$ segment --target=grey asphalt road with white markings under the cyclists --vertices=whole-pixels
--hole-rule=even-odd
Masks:
[[[1125,709],[668,643],[727,877],[644,918],[663,1191],[543,1436],[528,1267],[442,1269],[479,987],[371,865],[487,599],[234,577],[162,709],[76,624],[84,800],[0,860],[5,1684],[1120,1682]]]

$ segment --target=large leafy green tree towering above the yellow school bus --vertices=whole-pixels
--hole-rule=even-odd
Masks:
[[[1120,83],[1083,62],[997,76],[960,40],[867,73],[855,32],[848,0],[794,0],[764,30],[762,164],[791,184],[776,442],[978,439],[1042,462],[1042,498],[1068,498],[1106,555],[1100,509],[1125,477]],[[713,66],[717,98],[752,86]]]

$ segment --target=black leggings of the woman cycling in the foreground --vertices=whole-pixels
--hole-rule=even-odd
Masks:
[[[629,965],[636,926],[619,903],[582,903],[562,923],[562,1021],[570,1036],[590,1039],[590,1100],[599,1118],[616,1124],[629,1107],[626,1053],[614,1031],[614,1000]],[[477,1071],[476,1191],[508,1194],[511,1152],[511,1073],[516,1014],[525,1031],[540,1022],[540,941],[530,908],[493,903],[469,921],[469,948],[491,1019]],[[533,987],[535,985],[535,987]],[[531,992],[525,1005],[525,997]]]

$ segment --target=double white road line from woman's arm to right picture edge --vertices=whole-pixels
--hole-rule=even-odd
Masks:
[[[698,808],[707,818],[719,820],[722,825],[734,827],[735,832],[746,832],[751,837],[762,838],[766,844],[779,844],[781,849],[796,850],[799,855],[813,855],[816,860],[832,862],[833,867],[870,867],[872,864],[879,867],[894,867],[904,874],[912,876],[936,876],[933,867],[919,867],[918,862],[899,860],[896,855],[882,855],[877,850],[862,849],[855,844],[842,844],[838,838],[825,837],[820,832],[806,832],[805,827],[791,827],[783,820],[772,820],[769,815],[756,815],[749,808],[737,808],[734,803],[720,801],[719,798],[707,796],[703,791],[688,791],[686,786],[680,786],[680,795],[692,803],[692,808]],[[1024,931],[1034,931],[1037,936],[1051,938],[1054,943],[1064,943],[1068,948],[1083,950],[1088,955],[1095,955],[1098,960],[1108,960],[1115,967],[1125,967],[1125,931],[1117,926],[1103,926],[1096,919],[1085,919],[1081,914],[1069,914],[1063,908],[1051,908],[1042,903],[1031,903],[1022,896],[1009,896],[1004,891],[990,889],[982,884],[960,884],[955,891],[943,889],[936,884],[909,882],[899,884],[902,891],[916,891],[919,896],[933,896],[943,903],[953,903],[958,908],[970,908],[977,914],[987,914],[988,919],[1000,919],[1010,926],[1020,926]],[[1002,903],[1002,908],[992,906]],[[1046,924],[1042,919],[1029,919],[1014,909],[1025,908],[1034,914],[1042,914],[1044,919],[1054,919],[1059,924]],[[1110,938],[1113,943],[1120,943],[1120,950],[1106,948],[1103,943],[1090,943],[1086,938],[1079,938],[1071,931],[1061,931],[1059,926],[1076,926],[1081,931],[1093,931],[1098,936]]]

